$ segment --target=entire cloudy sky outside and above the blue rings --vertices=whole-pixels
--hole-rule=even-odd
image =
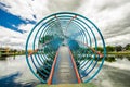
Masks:
[[[0,47],[24,49],[35,24],[61,11],[90,18],[106,45],[130,44],[130,0],[0,0]]]

